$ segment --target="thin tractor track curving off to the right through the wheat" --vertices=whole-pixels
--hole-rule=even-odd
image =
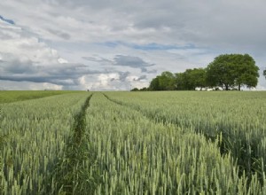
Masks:
[[[141,113],[143,116],[145,116],[145,118],[147,118],[150,121],[154,121],[155,123],[161,122],[164,125],[167,123],[170,123],[170,124],[173,124],[173,125],[178,126],[178,127],[190,128],[189,125],[185,125],[185,124],[181,125],[181,124],[178,124],[178,123],[173,122],[173,121],[168,121],[167,119],[165,119],[163,117],[159,117],[156,119],[156,116],[154,114],[145,113],[145,111],[141,110],[141,108],[136,108],[132,105],[124,104],[119,100],[115,100],[113,98],[108,97],[105,93],[103,93],[103,95],[106,97],[106,99],[113,102],[114,104],[129,107],[130,109],[135,110],[138,113]],[[215,136],[207,135],[207,133],[204,133],[202,130],[200,130],[202,128],[203,127],[195,127],[194,132],[202,134],[203,136],[206,137],[207,140],[211,140],[212,142],[215,142],[216,139],[219,139],[220,141],[219,141],[218,146],[219,146],[220,153],[222,156],[231,152],[231,150],[230,150],[231,143],[230,143],[230,141],[228,141],[228,140],[230,140],[231,135],[224,134],[223,131],[221,130],[221,135],[223,134],[223,139],[222,139],[222,137],[220,135],[215,135]],[[245,140],[243,143],[245,143]],[[252,155],[252,153],[248,153],[248,145],[246,145],[246,144],[243,144],[241,152],[243,152],[242,155],[244,155],[244,156],[245,155],[251,156],[250,160],[247,162],[249,165],[248,167],[246,167],[246,161],[239,160],[237,156],[232,156],[232,157],[233,157],[234,161],[236,160],[235,162],[239,166],[239,176],[246,175],[248,182],[251,182],[252,175],[254,173],[256,173],[257,169],[260,168],[260,165],[262,162],[257,156]],[[259,180],[261,183],[263,183],[263,173],[259,173]]]

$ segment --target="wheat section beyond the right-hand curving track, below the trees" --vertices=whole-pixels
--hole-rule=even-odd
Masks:
[[[259,175],[264,180],[266,161],[266,92],[180,91],[106,93],[118,105],[128,106],[153,121],[193,129],[215,141],[220,151],[231,153],[239,174],[248,182]]]

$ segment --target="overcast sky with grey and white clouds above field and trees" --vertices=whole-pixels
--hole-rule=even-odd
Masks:
[[[266,90],[264,0],[0,1],[0,90],[131,90],[251,55]]]

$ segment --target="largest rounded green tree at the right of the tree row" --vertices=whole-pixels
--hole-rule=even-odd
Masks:
[[[248,54],[224,54],[207,66],[207,84],[221,86],[225,90],[241,86],[255,87],[258,83],[259,67]]]

